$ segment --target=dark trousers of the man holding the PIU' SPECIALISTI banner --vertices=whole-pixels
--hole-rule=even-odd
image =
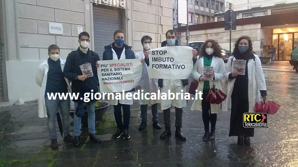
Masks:
[[[122,123],[122,113],[121,107],[123,109],[123,122]],[[114,106],[114,116],[119,129],[128,129],[130,123],[130,105],[122,105],[118,103],[117,106]]]

